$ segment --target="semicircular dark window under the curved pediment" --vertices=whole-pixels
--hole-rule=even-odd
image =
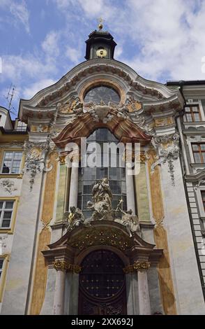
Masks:
[[[96,104],[100,104],[100,102],[105,104],[108,104],[109,102],[119,104],[120,100],[119,93],[116,92],[114,88],[107,85],[92,87],[88,92],[86,92],[84,97],[85,103],[94,102]]]

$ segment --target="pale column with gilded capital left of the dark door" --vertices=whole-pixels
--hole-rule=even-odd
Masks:
[[[54,292],[54,315],[64,314],[64,296],[66,283],[66,262],[56,260],[54,262],[54,269],[56,269],[56,285]]]

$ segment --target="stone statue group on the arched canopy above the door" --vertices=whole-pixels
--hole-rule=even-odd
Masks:
[[[93,186],[93,201],[87,203],[87,209],[92,211],[90,218],[84,218],[82,210],[76,207],[70,207],[66,211],[65,219],[67,221],[67,230],[73,230],[80,224],[90,226],[93,221],[114,221],[126,226],[126,229],[132,237],[134,232],[140,232],[139,220],[137,216],[132,215],[132,209],[123,211],[123,200],[119,200],[116,209],[112,209],[112,191],[109,188],[108,179],[101,179]],[[119,216],[121,214],[121,216]]]

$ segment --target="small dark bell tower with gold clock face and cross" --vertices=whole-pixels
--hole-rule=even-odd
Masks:
[[[100,18],[99,22],[98,31],[95,30],[91,32],[91,34],[89,34],[89,39],[86,41],[85,59],[114,59],[114,48],[116,43],[109,32],[102,31],[102,18]]]

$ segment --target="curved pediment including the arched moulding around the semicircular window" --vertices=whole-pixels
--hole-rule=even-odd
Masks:
[[[109,83],[121,94],[121,102],[126,101],[126,94],[133,94],[141,102],[176,102],[182,104],[179,87],[170,90],[162,83],[146,80],[126,64],[113,59],[91,59],[75,66],[63,78],[50,87],[38,92],[30,100],[20,102],[20,116],[24,106],[43,108],[66,103],[71,97],[79,96],[83,101],[84,92],[89,85]]]

